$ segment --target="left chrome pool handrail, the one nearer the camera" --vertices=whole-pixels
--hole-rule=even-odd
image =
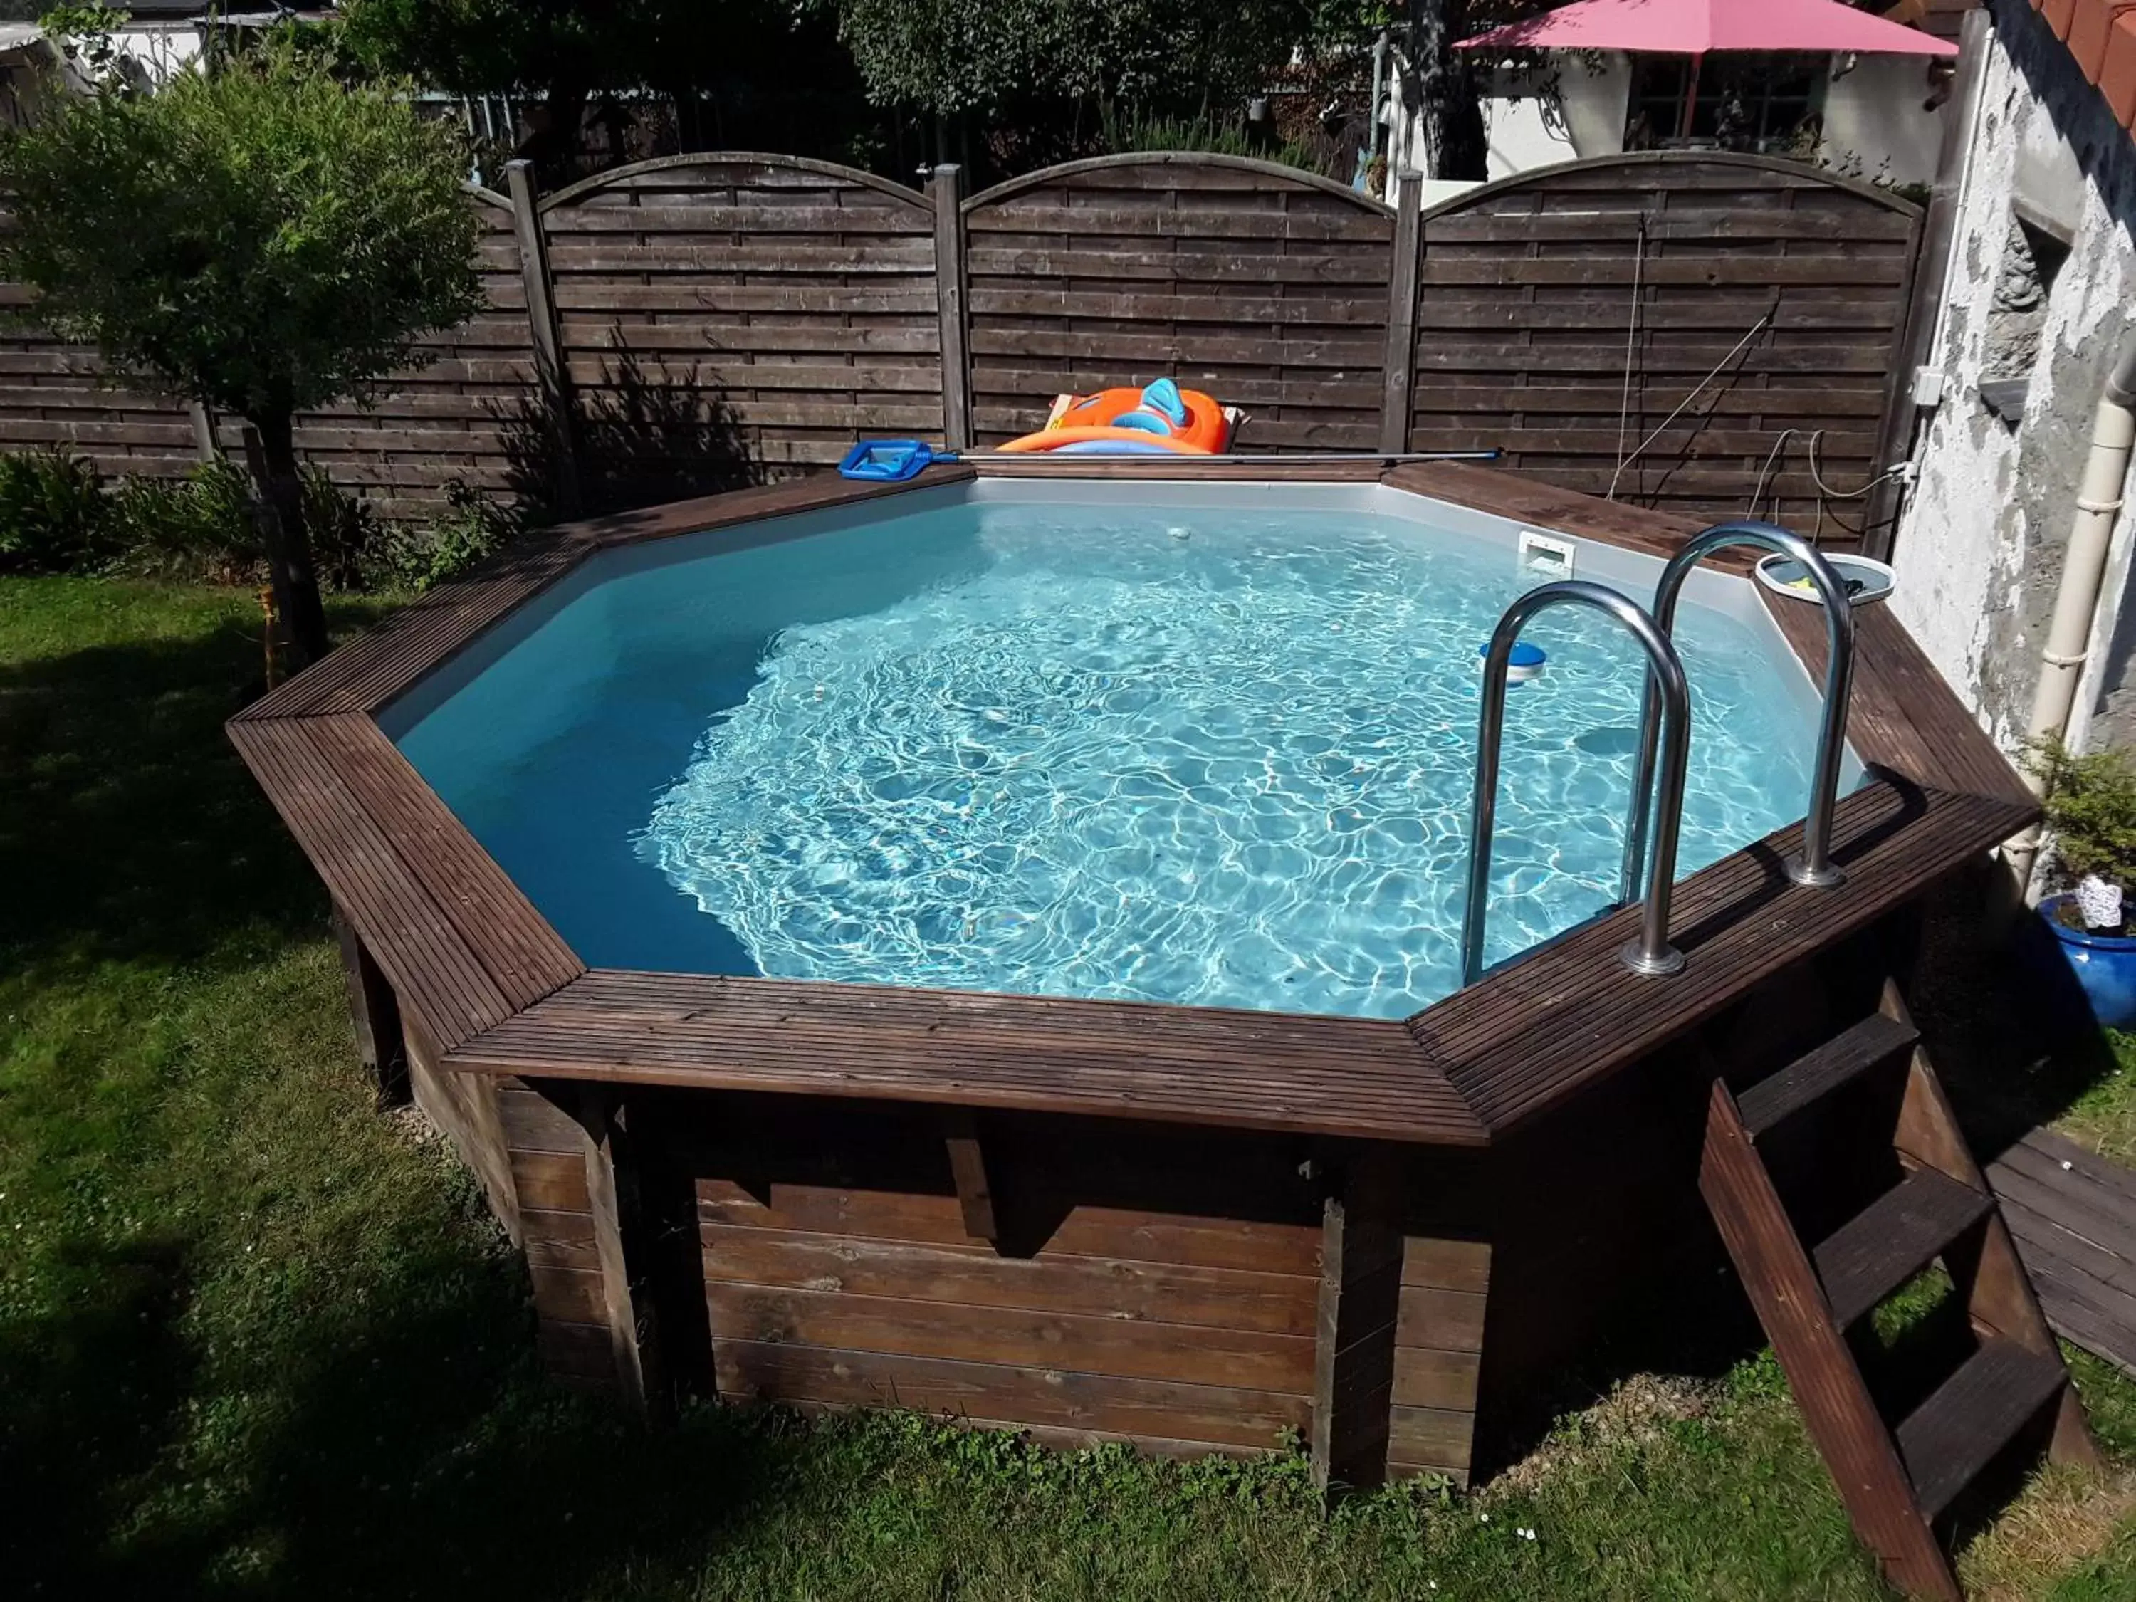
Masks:
[[[1660,716],[1666,724],[1662,743],[1662,803],[1653,831],[1653,863],[1647,869],[1647,901],[1638,938],[1619,953],[1634,974],[1675,974],[1683,953],[1668,944],[1668,895],[1677,882],[1677,827],[1683,822],[1683,769],[1692,754],[1692,690],[1683,677],[1683,660],[1668,632],[1649,617],[1636,600],[1608,585],[1585,579],[1561,579],[1529,590],[1497,619],[1491,651],[1482,664],[1482,720],[1476,731],[1476,805],[1470,812],[1470,891],[1461,914],[1461,983],[1482,978],[1482,927],[1491,897],[1491,829],[1497,820],[1497,758],[1506,726],[1506,669],[1512,647],[1529,619],[1551,607],[1593,607],[1623,624],[1647,651],[1649,705],[1640,722],[1643,748],[1655,735],[1658,709],[1651,701],[1660,684]],[[1634,790],[1638,818],[1647,807]]]

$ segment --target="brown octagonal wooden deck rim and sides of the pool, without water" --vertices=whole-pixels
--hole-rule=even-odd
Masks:
[[[525,1250],[551,1369],[677,1393],[895,1403],[1252,1452],[1344,1482],[1467,1480],[1525,1388],[1709,1241],[1715,1072],[1777,1062],[1903,957],[1922,897],[2033,820],[1888,607],[1858,613],[1837,891],[1799,827],[1690,876],[1687,970],[1632,978],[1636,908],[1408,1021],[590,972],[374,722],[596,551],[974,472],[1243,476],[1222,461],[833,476],[538,534],[231,720],[327,882],[359,1040],[404,1051]],[[1474,466],[1384,481],[1668,555],[1696,532]],[[1811,607],[1769,607],[1807,664]]]

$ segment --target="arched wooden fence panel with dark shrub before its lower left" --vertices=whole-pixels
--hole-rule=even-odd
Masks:
[[[942,436],[933,207],[790,156],[647,162],[543,207],[568,378],[639,406],[643,449],[771,470],[859,434]],[[639,449],[637,442],[632,449]]]

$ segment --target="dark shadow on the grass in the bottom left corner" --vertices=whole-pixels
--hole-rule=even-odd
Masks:
[[[186,1356],[182,1245],[105,1267],[96,1305],[0,1337],[11,1596],[577,1593],[701,1564],[786,1457],[778,1420],[649,1433],[545,1384],[502,1260],[397,1262],[370,1316],[220,1376]]]

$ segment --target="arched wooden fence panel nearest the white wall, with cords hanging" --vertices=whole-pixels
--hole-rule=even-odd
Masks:
[[[1807,434],[1831,489],[1875,472],[1918,231],[1869,186],[1732,156],[1465,194],[1423,226],[1410,446],[1497,444],[1519,472],[1587,493],[1617,478],[1619,500],[1702,521],[1741,517],[1766,478],[1781,521],[1818,528],[1822,500],[1826,540],[1854,545],[1863,502],[1820,496]]]

